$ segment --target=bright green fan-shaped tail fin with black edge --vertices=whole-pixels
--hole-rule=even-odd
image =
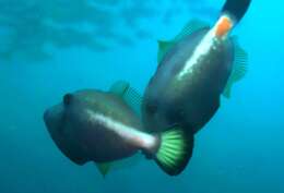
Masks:
[[[192,149],[193,135],[176,128],[161,135],[155,161],[167,174],[177,176],[186,168]]]

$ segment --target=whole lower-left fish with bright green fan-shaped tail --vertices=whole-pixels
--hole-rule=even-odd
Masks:
[[[135,101],[127,99],[128,87],[117,82],[108,92],[81,89],[66,94],[62,101],[44,112],[52,141],[71,161],[80,166],[93,161],[103,176],[111,162],[139,152],[166,173],[179,173],[191,156],[190,138],[178,128],[147,133],[138,110],[131,108]],[[168,160],[170,167],[165,167]]]

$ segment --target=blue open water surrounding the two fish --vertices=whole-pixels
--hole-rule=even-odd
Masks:
[[[178,177],[144,158],[103,178],[50,138],[46,108],[68,92],[126,80],[141,94],[157,39],[190,21],[213,24],[224,0],[0,0],[0,193],[283,193],[283,1],[252,1],[234,31],[247,76],[197,134]]]

